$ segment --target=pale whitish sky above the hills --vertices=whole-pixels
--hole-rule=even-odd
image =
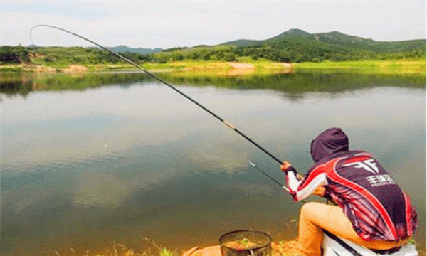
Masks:
[[[264,40],[291,28],[375,41],[426,38],[426,1],[0,0],[0,45],[173,48]]]

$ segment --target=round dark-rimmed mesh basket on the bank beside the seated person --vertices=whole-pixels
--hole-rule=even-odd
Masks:
[[[236,230],[219,238],[222,256],[269,256],[271,237],[253,230]]]

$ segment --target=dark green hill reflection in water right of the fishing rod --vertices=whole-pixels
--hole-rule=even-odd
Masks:
[[[212,76],[180,76],[164,73],[162,77],[176,85],[225,87],[233,89],[268,89],[298,95],[305,92],[346,92],[379,86],[418,87],[426,86],[426,76],[422,75],[361,75],[359,73],[337,71],[322,72],[304,70],[297,73],[277,75],[248,75],[237,78]]]

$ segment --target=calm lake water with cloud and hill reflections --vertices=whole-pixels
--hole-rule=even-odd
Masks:
[[[425,78],[164,79],[302,173],[311,140],[342,127],[411,196],[426,251]],[[248,160],[282,183],[279,165],[169,87],[138,74],[3,81],[1,255],[84,255],[113,242],[181,251],[238,229],[296,237],[301,204]],[[34,90],[87,82],[99,87]]]

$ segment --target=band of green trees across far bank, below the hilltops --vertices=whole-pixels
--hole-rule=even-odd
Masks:
[[[364,59],[426,58],[426,48],[367,50],[345,46],[318,45],[312,41],[278,41],[251,46],[196,46],[172,48],[159,53],[120,53],[136,63],[167,63],[179,60],[223,60],[236,61],[242,57],[253,60],[265,59],[277,62],[301,63],[323,60],[344,61]],[[0,63],[33,63],[38,65],[64,66],[73,63],[105,64],[124,63],[120,58],[98,48],[1,46]]]

